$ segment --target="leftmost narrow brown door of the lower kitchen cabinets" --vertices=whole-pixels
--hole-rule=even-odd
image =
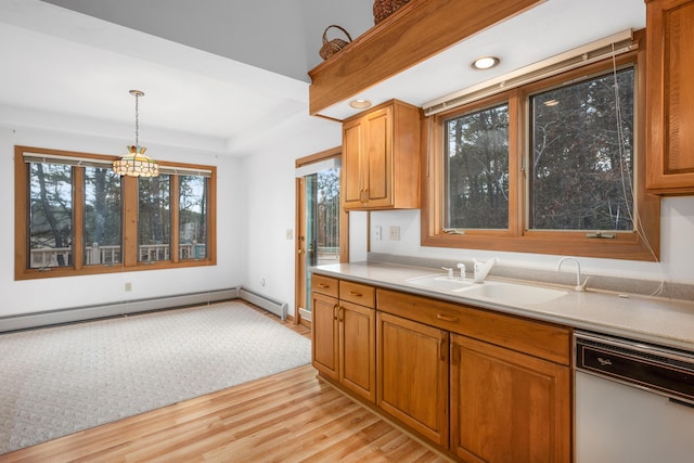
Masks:
[[[311,299],[312,363],[325,376],[337,381],[337,299],[316,292]]]

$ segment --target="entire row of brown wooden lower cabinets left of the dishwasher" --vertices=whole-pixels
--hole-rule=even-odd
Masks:
[[[569,327],[382,288],[373,309],[369,287],[339,287],[312,299],[322,375],[461,461],[571,461]]]

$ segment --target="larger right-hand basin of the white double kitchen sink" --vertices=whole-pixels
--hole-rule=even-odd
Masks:
[[[473,284],[472,286],[460,287],[452,291],[464,297],[513,305],[544,304],[568,294],[566,291],[550,287],[497,281],[486,281],[483,284]]]

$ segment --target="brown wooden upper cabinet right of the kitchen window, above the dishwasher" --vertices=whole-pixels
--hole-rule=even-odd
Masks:
[[[694,194],[694,0],[646,0],[646,189]]]

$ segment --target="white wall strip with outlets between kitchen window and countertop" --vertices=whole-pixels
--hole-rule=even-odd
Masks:
[[[672,197],[661,201],[660,263],[580,257],[581,270],[602,275],[656,281],[663,278],[669,282],[694,284],[694,265],[692,265],[694,262],[694,197]],[[381,241],[375,240],[375,227],[382,228]],[[390,227],[400,228],[400,241],[389,240]],[[421,246],[419,209],[371,213],[370,233],[373,253],[451,260],[472,258],[485,260],[488,257],[498,256],[506,266],[534,269],[554,269],[558,261],[558,256],[552,255]]]

